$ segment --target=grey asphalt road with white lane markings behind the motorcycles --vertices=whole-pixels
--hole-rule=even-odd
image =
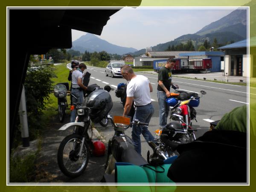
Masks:
[[[98,84],[101,87],[104,87],[106,84],[115,88],[119,83],[125,83],[126,80],[122,78],[111,78],[105,76],[105,69],[98,67],[87,67],[87,71],[91,73],[90,83],[89,84]],[[146,73],[136,73],[137,75],[144,75],[148,77],[149,81],[153,86],[153,92],[151,93],[152,103],[154,105],[154,116],[152,117],[149,124],[149,131],[154,133],[154,130],[159,128],[159,107],[157,101],[157,75],[146,74]],[[172,81],[175,84],[178,84],[180,90],[186,90],[188,92],[197,92],[200,93],[200,90],[204,90],[207,92],[203,98],[200,99],[200,105],[195,108],[197,111],[197,121],[192,122],[192,126],[194,129],[198,129],[195,132],[196,137],[200,137],[209,129],[209,120],[219,120],[221,117],[231,111],[233,108],[247,105],[248,102],[248,90],[246,86],[240,85],[231,85],[231,84],[221,84],[215,82],[207,82],[207,81],[198,81],[191,79],[183,79],[173,77]],[[114,91],[111,93],[111,97],[113,100],[113,108],[110,111],[110,115],[122,115],[123,107],[120,103],[120,99],[115,96]],[[201,93],[199,94],[201,96]],[[256,98],[256,95],[250,95],[253,98]],[[102,128],[100,125],[96,125],[97,130],[106,137],[106,140],[113,137],[114,131],[112,126],[109,124],[106,128]],[[128,129],[125,134],[131,137],[131,129]],[[147,151],[151,148],[148,146],[143,136],[141,136],[142,140],[142,155],[146,158]],[[152,153],[152,151],[151,151]]]

